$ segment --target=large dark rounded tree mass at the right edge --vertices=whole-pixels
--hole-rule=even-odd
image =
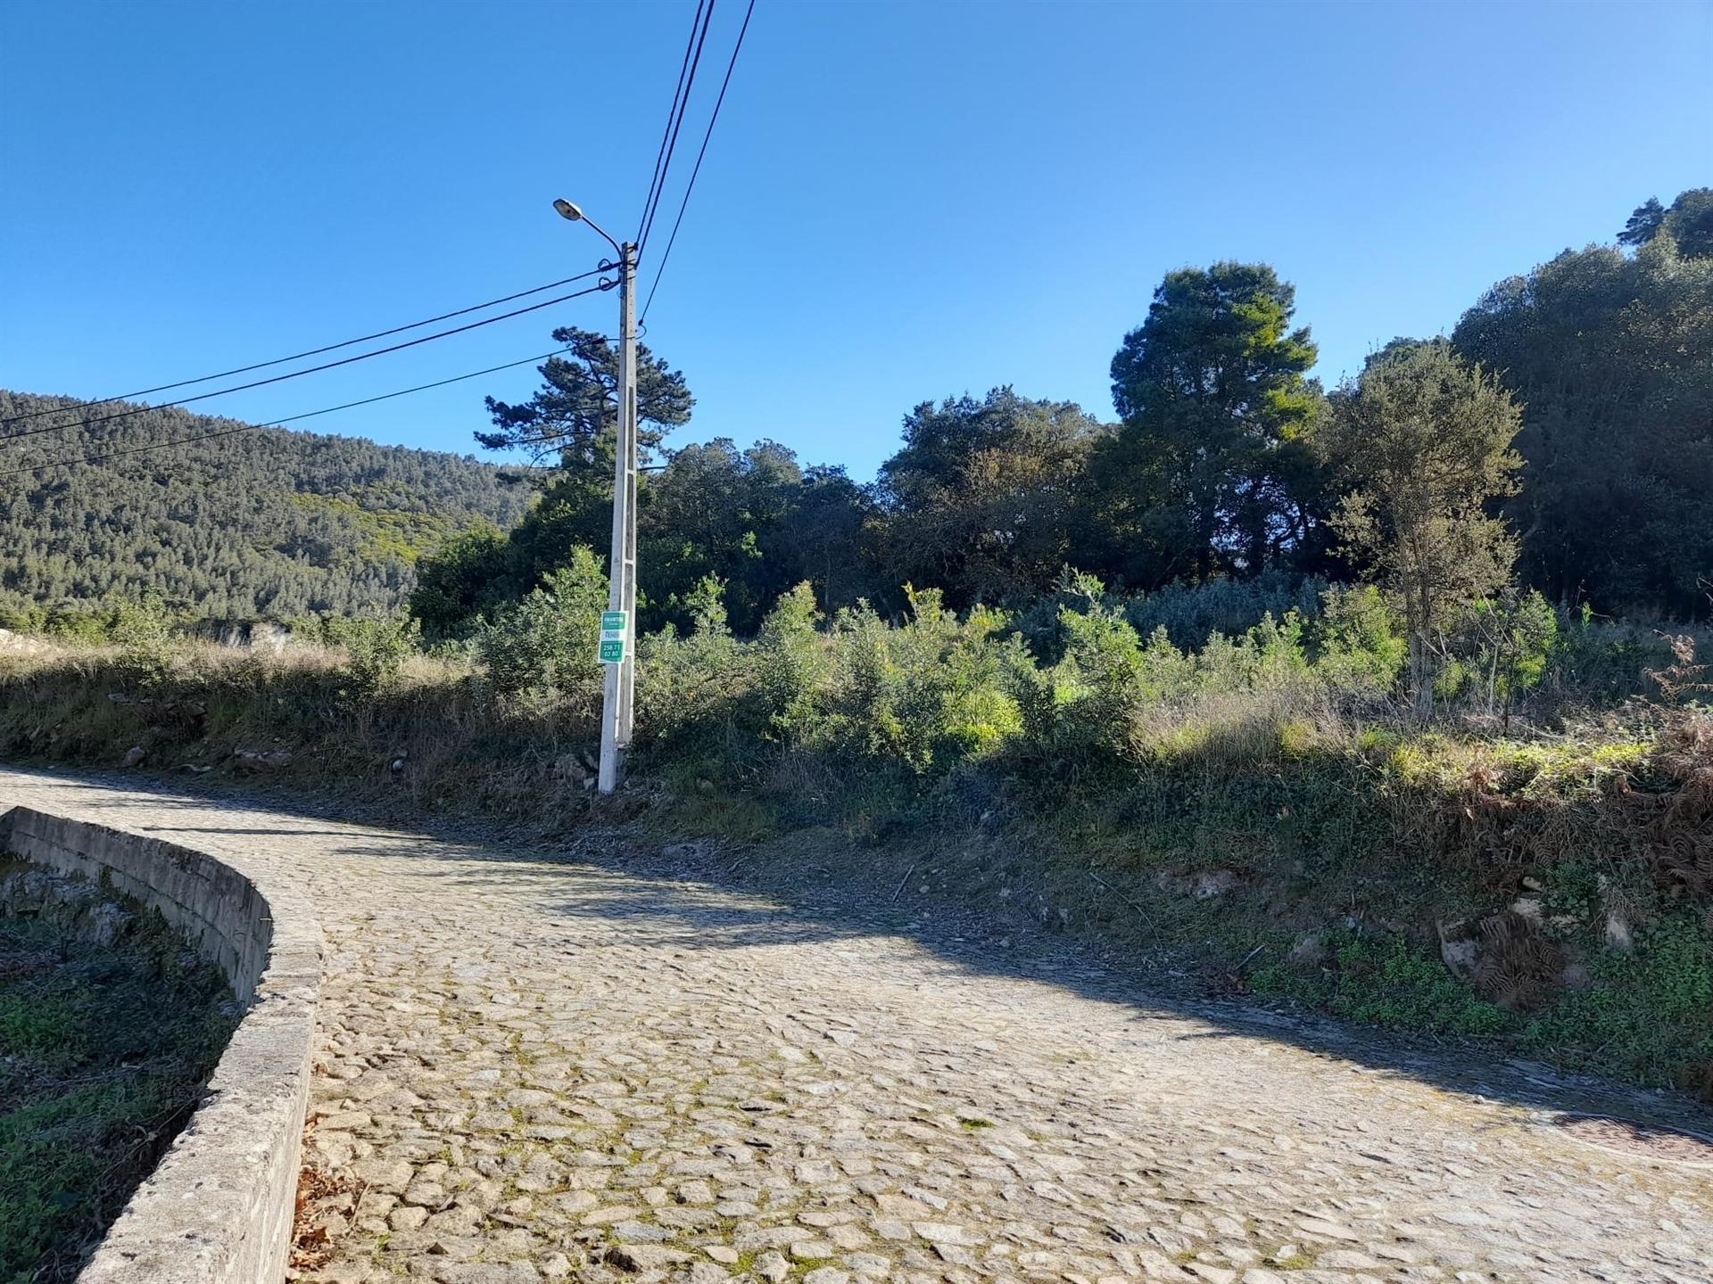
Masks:
[[[1686,209],[1692,195],[1679,199]],[[1501,281],[1463,315],[1453,344],[1523,406],[1516,449],[1526,467],[1507,512],[1525,582],[1555,603],[1704,618],[1713,255],[1691,257],[1679,238],[1651,231],[1639,241],[1634,255],[1566,250]]]

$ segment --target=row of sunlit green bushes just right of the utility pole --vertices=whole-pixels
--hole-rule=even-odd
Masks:
[[[1264,613],[1237,637],[1215,632],[1182,651],[1165,625],[1141,637],[1083,577],[1059,596],[1050,663],[1006,613],[958,615],[932,589],[908,591],[898,623],[867,604],[827,621],[803,584],[754,642],[725,628],[718,592],[704,584],[689,635],[668,630],[641,652],[641,728],[668,757],[800,752],[915,777],[995,753],[1137,764],[1167,724],[1196,721],[1213,697],[1269,692],[1305,716],[1316,702],[1384,692],[1401,657],[1372,591],[1329,596],[1314,627]]]

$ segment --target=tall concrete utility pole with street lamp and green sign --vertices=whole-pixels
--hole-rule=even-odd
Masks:
[[[637,247],[615,241],[569,200],[555,200],[553,209],[572,223],[588,223],[618,252],[618,442],[613,455],[613,550],[606,563],[606,615],[601,618],[600,659],[606,668],[606,683],[601,690],[601,767],[596,776],[596,788],[610,794],[618,788],[618,755],[630,748],[636,700]]]

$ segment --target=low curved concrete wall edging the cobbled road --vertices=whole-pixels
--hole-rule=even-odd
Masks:
[[[0,849],[161,911],[250,1005],[190,1123],[79,1284],[278,1284],[308,1103],[320,924],[296,894],[188,847],[12,808]]]

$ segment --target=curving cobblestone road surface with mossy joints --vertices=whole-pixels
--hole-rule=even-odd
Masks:
[[[305,1279],[1713,1277],[1713,1169],[1564,1137],[1569,1091],[1502,1063],[570,859],[22,772],[0,803],[312,894],[307,1161],[351,1188]]]

